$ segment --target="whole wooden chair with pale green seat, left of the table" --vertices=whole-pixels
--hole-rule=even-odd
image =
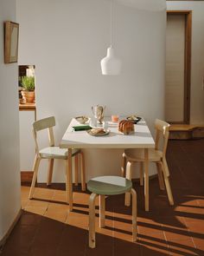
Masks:
[[[38,167],[41,159],[48,159],[48,180],[47,185],[50,185],[52,182],[54,159],[65,160],[66,162],[66,193],[67,193],[67,203],[68,203],[68,167],[67,167],[67,154],[68,150],[66,148],[59,148],[54,146],[54,132],[53,127],[55,126],[54,116],[35,121],[33,123],[33,134],[35,138],[35,161],[33,166],[33,180],[29,191],[29,199],[33,198],[35,190],[35,182],[38,173]],[[49,147],[42,148],[39,150],[36,133],[48,128],[48,138],[49,138]],[[78,183],[78,161],[80,156],[80,165],[81,165],[81,187],[82,190],[86,190],[86,178],[85,178],[85,164],[84,164],[84,155],[80,149],[73,149],[72,156],[75,158],[75,184]]]

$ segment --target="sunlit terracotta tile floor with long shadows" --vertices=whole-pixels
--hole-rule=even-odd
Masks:
[[[131,208],[124,195],[106,199],[106,226],[99,228],[97,247],[88,247],[88,198],[74,187],[74,210],[69,213],[64,185],[39,185],[35,200],[22,186],[22,218],[2,255],[10,256],[136,256],[204,255],[204,140],[169,141],[168,163],[175,207],[166,193],[150,181],[150,212],[143,211],[143,187],[138,196],[138,240],[131,242]]]

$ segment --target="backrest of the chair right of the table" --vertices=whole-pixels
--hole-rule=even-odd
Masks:
[[[161,138],[163,138],[163,157],[166,155],[167,145],[169,140],[169,123],[166,121],[162,121],[156,119],[155,121],[155,129],[156,129],[156,140],[155,140],[155,149],[159,149],[159,142]]]

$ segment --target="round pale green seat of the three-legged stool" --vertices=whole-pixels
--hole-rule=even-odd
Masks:
[[[95,194],[124,194],[131,190],[132,182],[119,176],[100,176],[88,181],[87,189]]]

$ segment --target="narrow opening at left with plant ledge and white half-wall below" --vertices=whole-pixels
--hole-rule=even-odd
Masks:
[[[23,82],[25,86],[23,86]],[[18,66],[19,91],[19,131],[20,131],[20,168],[21,181],[31,181],[33,161],[35,158],[35,142],[32,135],[32,124],[36,121],[35,102],[35,65]],[[23,92],[31,92],[31,97],[23,96]],[[29,143],[28,143],[29,141]]]

